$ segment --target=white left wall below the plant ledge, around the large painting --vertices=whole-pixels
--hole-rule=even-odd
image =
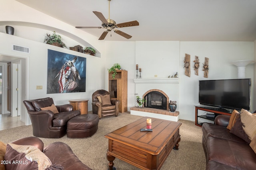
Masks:
[[[78,53],[69,49],[63,49],[53,45],[39,43],[28,39],[16,37],[6,33],[0,33],[0,55],[20,57],[26,59],[26,99],[36,99],[52,97],[56,105],[68,104],[72,99],[88,99],[88,110],[92,110],[90,104],[92,93],[105,86],[105,57],[94,57],[84,53]],[[12,45],[28,47],[30,53],[12,51]],[[47,51],[48,49],[63,53],[77,55],[86,58],[86,92],[65,93],[65,94],[46,94],[47,93]],[[42,90],[36,90],[36,86],[43,86]],[[22,104],[24,108],[24,105]],[[23,109],[22,109],[23,110]],[[26,114],[26,122],[28,115]]]

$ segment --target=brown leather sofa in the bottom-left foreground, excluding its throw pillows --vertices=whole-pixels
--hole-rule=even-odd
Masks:
[[[51,161],[52,165],[63,170],[92,170],[83,164],[73,153],[72,149],[62,142],[54,142],[44,148],[44,143],[37,137],[25,137],[12,142],[16,145],[32,145],[40,149]],[[39,151],[40,152],[40,151]],[[6,152],[6,154],[8,154]],[[6,155],[5,155],[6,157]],[[17,161],[17,160],[16,160]],[[27,163],[25,163],[27,164]],[[31,164],[32,165],[32,164]],[[6,164],[6,170],[10,170],[12,164]],[[26,165],[24,165],[26,166]],[[9,168],[9,169],[8,169]],[[27,169],[28,167],[26,167]],[[54,168],[50,168],[51,170]]]

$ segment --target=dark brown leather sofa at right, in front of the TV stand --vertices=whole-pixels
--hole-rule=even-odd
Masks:
[[[252,170],[256,168],[256,153],[248,141],[230,133],[230,116],[218,115],[215,124],[203,123],[202,145],[206,170]]]

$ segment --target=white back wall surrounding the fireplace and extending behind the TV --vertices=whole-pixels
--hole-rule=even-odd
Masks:
[[[170,100],[177,100],[177,110],[180,111],[179,118],[186,120],[195,120],[195,105],[198,105],[198,80],[204,80],[204,72],[202,66],[204,57],[209,58],[209,76],[211,79],[228,79],[237,78],[237,67],[230,64],[232,61],[253,60],[254,59],[254,43],[253,42],[178,42],[178,41],[137,41],[135,46],[135,56],[127,55],[131,50],[131,46],[127,42],[107,41],[107,62],[108,67],[114,63],[120,63],[123,68],[128,70],[131,76],[128,78],[129,94],[142,96],[144,92],[138,92],[138,88],[134,88],[135,68],[136,64],[142,68],[142,78],[167,78],[168,75],[176,73],[178,70],[179,84],[158,84],[156,88],[166,88],[166,94]],[[155,47],[155,48],[154,48]],[[156,51],[155,49],[159,49]],[[115,52],[115,51],[118,52]],[[123,51],[122,55],[120,52]],[[185,53],[191,56],[191,76],[184,75],[184,57]],[[194,74],[193,61],[198,56],[200,60],[199,75]],[[127,61],[129,59],[129,61]],[[246,67],[246,78],[254,78],[253,64]],[[108,82],[106,81],[106,86]],[[150,90],[148,85],[144,85],[145,92]],[[160,89],[161,90],[161,89]],[[174,94],[172,94],[172,90]],[[164,91],[164,90],[163,90]],[[178,92],[177,92],[178,91]],[[165,92],[165,91],[164,91]],[[177,95],[173,99],[173,96]],[[253,94],[253,85],[252,85]],[[128,100],[128,107],[134,106],[134,98]],[[253,103],[253,95],[252,95]]]

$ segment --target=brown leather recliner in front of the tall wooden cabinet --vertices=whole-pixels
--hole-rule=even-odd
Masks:
[[[109,100],[108,101],[108,96]],[[98,96],[101,97],[102,101],[99,101]],[[100,99],[100,100],[101,100]],[[109,92],[106,90],[97,90],[92,94],[92,113],[98,114],[99,118],[107,116],[118,116],[120,104],[119,100],[111,100]]]

